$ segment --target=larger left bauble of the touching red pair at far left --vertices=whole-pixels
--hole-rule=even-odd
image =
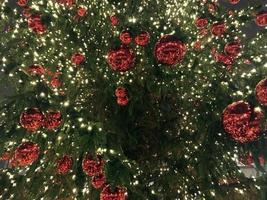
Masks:
[[[36,131],[43,125],[44,115],[38,108],[28,108],[20,115],[20,124],[28,131]]]

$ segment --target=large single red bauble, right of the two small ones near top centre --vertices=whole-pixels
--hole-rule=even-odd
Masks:
[[[154,53],[160,63],[175,65],[183,60],[186,45],[176,37],[166,35],[156,43]]]

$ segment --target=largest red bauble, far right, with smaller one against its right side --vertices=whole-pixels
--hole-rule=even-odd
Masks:
[[[247,102],[234,102],[223,111],[224,130],[238,142],[251,142],[261,132],[262,118],[263,113],[252,110]]]

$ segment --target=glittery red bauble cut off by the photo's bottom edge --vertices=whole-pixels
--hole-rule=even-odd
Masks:
[[[111,189],[110,185],[104,187],[100,193],[100,200],[125,200],[127,190],[123,187],[116,187]]]

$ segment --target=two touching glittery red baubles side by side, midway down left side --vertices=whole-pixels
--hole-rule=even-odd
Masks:
[[[38,108],[28,108],[20,115],[20,124],[30,132],[37,131],[41,127],[49,130],[58,128],[62,123],[60,111],[48,111],[45,114]]]

